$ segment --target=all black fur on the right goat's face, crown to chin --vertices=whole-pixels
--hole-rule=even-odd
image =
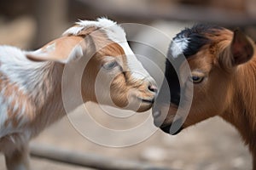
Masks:
[[[181,89],[183,87],[180,86],[180,82],[178,79],[179,75],[179,67],[183,63],[184,59],[188,59],[190,56],[196,54],[200,51],[201,47],[206,45],[207,43],[211,43],[211,40],[208,37],[218,36],[218,30],[222,30],[222,27],[219,26],[212,26],[212,25],[195,25],[192,28],[185,28],[183,31],[180,31],[173,40],[178,39],[187,39],[188,40],[188,47],[183,49],[184,57],[175,56],[173,58],[171,48],[169,48],[167,59],[166,59],[166,71],[165,77],[166,82],[162,83],[160,88],[160,93],[156,99],[156,103],[154,105],[153,111],[159,111],[158,105],[162,103],[172,103],[174,105],[183,105],[183,102],[180,101],[183,97],[181,94]],[[172,42],[171,45],[172,46]],[[168,93],[166,90],[170,90],[171,99],[169,100]],[[182,98],[183,99],[183,98]],[[177,122],[173,122],[174,129],[171,129],[172,124],[169,124],[166,127],[162,127],[159,124],[159,121],[154,121],[154,124],[157,127],[160,127],[166,133],[177,134],[179,133],[183,127],[180,127],[181,120]]]

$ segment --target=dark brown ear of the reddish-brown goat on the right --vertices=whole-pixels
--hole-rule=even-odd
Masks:
[[[233,40],[230,45],[230,54],[233,65],[246,63],[253,57],[253,41],[251,41],[240,30],[234,31]]]

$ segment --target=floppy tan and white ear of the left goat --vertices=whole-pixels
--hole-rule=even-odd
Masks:
[[[84,49],[85,42],[83,37],[60,37],[44,45],[43,48],[26,52],[26,57],[33,61],[68,63],[82,57],[84,55]]]

